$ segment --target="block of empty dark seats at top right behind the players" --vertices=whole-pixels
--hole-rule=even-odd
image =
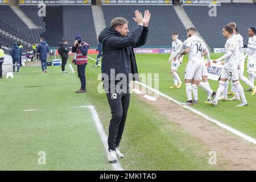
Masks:
[[[255,26],[256,6],[253,3],[221,3],[217,6],[217,16],[209,16],[208,6],[183,6],[201,36],[212,48],[222,48],[226,40],[222,36],[222,27],[236,22],[245,43],[248,42],[247,30]]]

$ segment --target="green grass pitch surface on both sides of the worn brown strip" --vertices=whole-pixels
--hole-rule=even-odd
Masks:
[[[96,58],[96,55],[90,55]],[[211,54],[211,59],[220,55]],[[159,73],[159,90],[178,101],[185,101],[185,87],[173,85],[168,54],[136,55],[139,73]],[[71,59],[69,59],[71,63]],[[86,67],[88,92],[76,94],[80,81],[77,72],[61,74],[59,66],[22,67],[13,79],[0,80],[0,170],[112,170],[106,151],[89,109],[96,107],[108,134],[110,108],[105,94],[97,92],[100,68]],[[179,68],[184,80],[187,56]],[[76,71],[76,66],[72,65]],[[247,73],[245,72],[245,75]],[[246,75],[247,76],[247,75]],[[209,81],[214,90],[217,81]],[[243,88],[247,88],[243,83]],[[204,90],[199,88],[200,104],[195,109],[256,138],[255,100],[245,93],[249,105],[235,107],[239,101],[220,101],[218,107],[203,103]],[[36,111],[24,111],[36,109]],[[192,135],[168,121],[146,102],[132,94],[126,128],[121,142],[126,158],[119,160],[127,170],[216,170],[224,166],[208,164],[208,152]],[[46,164],[39,165],[39,151],[46,152]]]

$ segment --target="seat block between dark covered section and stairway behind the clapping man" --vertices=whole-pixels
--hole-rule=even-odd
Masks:
[[[97,46],[92,6],[63,6],[63,38],[72,44],[76,35],[81,35],[90,46]]]

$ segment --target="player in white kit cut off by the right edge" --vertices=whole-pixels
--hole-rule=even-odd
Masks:
[[[254,85],[254,78],[256,78],[256,28],[251,27],[248,30],[249,44],[247,44],[248,50],[245,55],[245,59],[248,56],[247,60],[247,71],[249,72],[250,82]],[[253,91],[253,88],[252,88]]]

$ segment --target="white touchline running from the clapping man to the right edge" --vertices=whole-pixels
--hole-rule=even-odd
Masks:
[[[200,115],[201,117],[203,117],[203,118],[207,119],[208,121],[216,124],[217,126],[221,127],[222,129],[225,129],[225,130],[229,131],[230,133],[233,133],[234,135],[237,135],[238,137],[241,137],[242,139],[247,140],[248,142],[256,144],[256,139],[255,138],[252,138],[249,135],[246,135],[246,134],[242,133],[241,131],[238,131],[238,130],[234,129],[233,127],[225,125],[224,123],[221,123],[220,121],[217,121],[216,119],[213,119],[213,118],[209,117],[208,115],[203,114],[203,113],[201,113],[200,111],[198,111],[196,109],[193,109],[192,107],[181,105],[181,102],[174,100],[173,98],[167,96],[166,94],[164,94],[162,92],[159,92],[158,90],[155,90],[155,89],[151,88],[150,86],[147,86],[147,85],[143,84],[142,82],[138,82],[138,81],[134,81],[134,82],[137,82],[138,84],[146,87],[147,89],[150,89],[150,90],[154,91],[155,93],[159,94],[160,96],[162,96],[164,98],[167,98],[168,100],[171,100],[172,102],[175,102],[177,105],[180,105],[182,107],[185,107],[188,110],[191,110],[193,113],[196,113],[196,114]]]

